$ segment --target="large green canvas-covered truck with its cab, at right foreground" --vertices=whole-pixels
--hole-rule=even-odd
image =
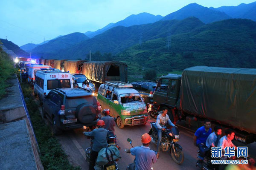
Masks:
[[[183,119],[200,126],[210,119],[236,130],[239,142],[256,141],[256,69],[186,68],[182,75],[160,77],[153,100],[152,109],[168,107],[173,122]]]

